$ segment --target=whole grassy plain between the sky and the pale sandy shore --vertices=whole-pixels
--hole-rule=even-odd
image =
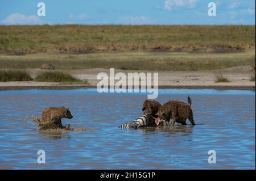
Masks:
[[[0,26],[0,69],[255,66],[255,26]]]

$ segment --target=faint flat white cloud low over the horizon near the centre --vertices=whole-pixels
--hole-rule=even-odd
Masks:
[[[149,16],[124,16],[119,18],[121,24],[151,24],[152,22]]]

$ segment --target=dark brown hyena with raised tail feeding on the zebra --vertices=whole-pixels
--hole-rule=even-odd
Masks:
[[[195,125],[193,119],[193,112],[191,109],[191,99],[188,96],[188,103],[183,103],[175,100],[170,100],[163,104],[162,108],[156,113],[160,119],[170,121],[172,119],[171,125],[175,122],[186,125],[186,120],[188,119],[192,125]]]

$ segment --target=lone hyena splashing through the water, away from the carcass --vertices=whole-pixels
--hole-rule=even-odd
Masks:
[[[65,107],[48,107],[43,110],[40,126],[44,128],[65,128],[61,123],[61,118],[72,119],[71,112]]]

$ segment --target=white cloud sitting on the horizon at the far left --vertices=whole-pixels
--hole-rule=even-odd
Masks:
[[[36,15],[23,15],[14,13],[2,20],[3,24],[40,24],[40,18]]]

